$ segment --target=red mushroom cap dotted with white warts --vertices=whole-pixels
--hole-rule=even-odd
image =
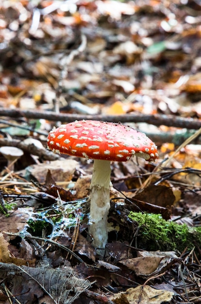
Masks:
[[[127,161],[140,156],[157,157],[157,147],[144,133],[120,123],[80,120],[50,131],[48,149],[58,154],[109,161]]]

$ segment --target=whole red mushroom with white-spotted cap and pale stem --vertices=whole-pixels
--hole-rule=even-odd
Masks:
[[[110,162],[125,162],[134,155],[154,161],[158,157],[156,145],[144,133],[122,124],[81,120],[50,131],[47,147],[59,154],[94,159],[89,233],[93,236],[93,245],[104,248],[110,208]]]

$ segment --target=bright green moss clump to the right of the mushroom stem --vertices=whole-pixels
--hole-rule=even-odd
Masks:
[[[182,253],[186,247],[194,248],[195,244],[201,247],[201,227],[191,228],[166,221],[160,214],[130,212],[129,218],[138,223],[138,248]]]

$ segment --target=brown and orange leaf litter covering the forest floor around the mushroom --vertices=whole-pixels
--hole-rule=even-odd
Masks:
[[[200,122],[200,11],[194,0],[2,1],[0,146],[24,155],[10,167],[0,154],[0,303],[200,303],[200,130],[167,123]],[[158,162],[112,163],[101,260],[87,231],[92,162],[47,151],[59,119],[38,110],[152,115],[128,122]]]

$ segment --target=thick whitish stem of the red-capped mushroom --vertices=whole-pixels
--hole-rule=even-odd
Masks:
[[[94,160],[90,186],[90,225],[95,248],[105,248],[107,243],[107,217],[110,209],[110,161]]]

